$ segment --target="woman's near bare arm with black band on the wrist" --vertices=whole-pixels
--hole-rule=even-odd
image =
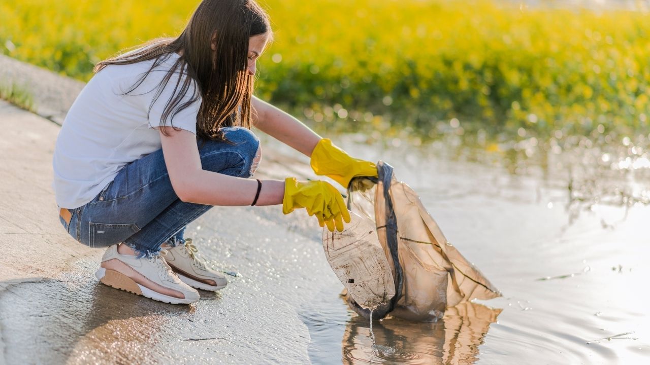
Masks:
[[[232,177],[203,170],[196,136],[191,132],[167,129],[160,132],[162,155],[174,192],[179,199],[203,205],[250,205],[257,192],[257,181]],[[255,205],[282,204],[285,183],[279,180],[262,181],[262,190]]]

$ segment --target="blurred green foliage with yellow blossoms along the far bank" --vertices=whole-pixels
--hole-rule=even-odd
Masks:
[[[178,34],[197,3],[4,2],[0,48],[88,80],[98,60]],[[425,136],[451,118],[540,136],[647,128],[650,23],[641,12],[489,0],[261,3],[276,40],[261,58],[257,94],[318,125],[409,126]]]

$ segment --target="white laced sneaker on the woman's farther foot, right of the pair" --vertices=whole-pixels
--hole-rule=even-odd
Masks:
[[[194,288],[216,292],[228,284],[226,276],[205,266],[205,262],[196,257],[196,246],[192,238],[185,238],[185,244],[167,249],[164,260],[181,278],[183,283]]]

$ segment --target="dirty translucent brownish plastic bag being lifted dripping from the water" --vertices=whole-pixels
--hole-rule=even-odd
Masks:
[[[448,307],[500,296],[393,168],[380,161],[377,170],[377,178],[355,178],[348,188],[353,222],[343,232],[323,231],[326,257],[350,307],[365,318],[372,310],[373,319],[431,321]]]

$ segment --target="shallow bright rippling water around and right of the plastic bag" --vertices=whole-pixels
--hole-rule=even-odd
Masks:
[[[629,141],[576,141],[528,153],[487,153],[453,140],[418,149],[341,142],[393,164],[503,297],[447,310],[438,323],[374,321],[372,341],[368,321],[335,295],[343,286],[327,284],[302,311],[311,361],[647,363],[647,153]]]

